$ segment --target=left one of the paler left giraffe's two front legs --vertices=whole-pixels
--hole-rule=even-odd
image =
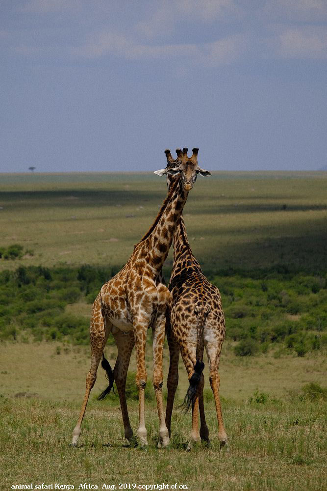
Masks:
[[[139,389],[139,427],[137,435],[140,441],[140,446],[145,447],[148,445],[147,429],[145,427],[145,414],[144,414],[144,401],[145,401],[145,387],[147,385],[147,370],[145,365],[145,347],[147,340],[148,325],[134,324],[134,340],[136,351],[136,385]]]

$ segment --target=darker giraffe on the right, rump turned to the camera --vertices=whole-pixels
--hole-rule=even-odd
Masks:
[[[167,169],[176,166],[170,152],[166,152]],[[187,148],[178,156],[178,160],[187,160]],[[167,172],[168,189],[175,185],[178,177]],[[203,173],[201,173],[203,175]],[[210,175],[206,171],[205,175]],[[169,374],[167,379],[168,398],[166,407],[166,425],[171,435],[171,417],[176,388],[178,384],[178,359],[181,352],[188,377],[189,388],[183,407],[188,410],[192,404],[192,432],[189,447],[200,439],[209,443],[209,430],[206,425],[203,404],[203,350],[205,347],[210,369],[210,385],[213,391],[217,412],[221,449],[227,443],[222,410],[219,400],[219,361],[225,338],[225,318],[219,290],[209,283],[194,257],[185,228],[180,216],[174,235],[174,262],[168,286],[168,315],[166,333],[170,353]],[[201,428],[199,432],[198,412],[200,409]]]

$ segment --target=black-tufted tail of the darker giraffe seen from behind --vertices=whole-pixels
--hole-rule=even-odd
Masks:
[[[198,331],[197,331],[197,352],[196,352],[196,363],[194,365],[194,373],[189,380],[189,388],[187,389],[186,396],[184,398],[184,402],[181,404],[180,408],[184,412],[188,412],[192,406],[192,403],[195,402],[198,386],[201,382],[201,376],[204,369],[204,363],[202,361],[202,354],[200,353],[200,343],[203,334],[203,328],[206,316],[210,312],[210,305],[207,303],[199,303],[195,306],[194,312],[198,317]]]

